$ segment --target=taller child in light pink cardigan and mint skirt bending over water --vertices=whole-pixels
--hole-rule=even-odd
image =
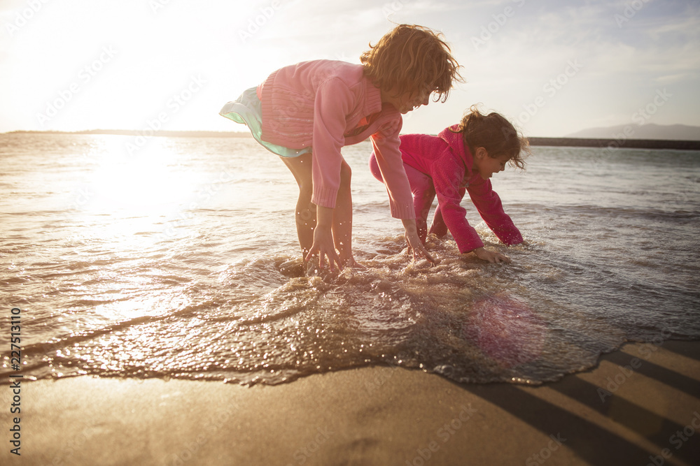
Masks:
[[[295,219],[304,260],[355,265],[352,255],[351,170],[344,145],[371,138],[384,175],[391,215],[402,220],[414,257],[435,261],[416,231],[401,154],[401,115],[447,99],[459,65],[440,34],[401,24],[360,57],[362,64],[317,60],[281,68],[220,114],[244,123],[281,156],[299,186]]]

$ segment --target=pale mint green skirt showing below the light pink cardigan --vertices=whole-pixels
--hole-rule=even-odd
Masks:
[[[260,103],[260,99],[258,99],[258,93],[255,87],[246,89],[238,99],[224,105],[219,115],[232,119],[236,123],[248,126],[253,138],[255,138],[262,147],[265,147],[265,149],[273,154],[283,157],[296,157],[311,152],[311,147],[304,147],[303,149],[297,150],[266,143],[262,140],[262,104]]]

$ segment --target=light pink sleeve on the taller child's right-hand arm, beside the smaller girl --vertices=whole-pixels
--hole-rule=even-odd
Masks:
[[[416,212],[413,208],[411,184],[403,168],[399,150],[398,133],[401,131],[401,125],[402,119],[398,117],[382,126],[377,133],[372,134],[372,147],[389,196],[391,217],[414,219]]]

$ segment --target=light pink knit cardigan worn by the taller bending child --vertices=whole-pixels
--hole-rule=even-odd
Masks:
[[[381,92],[365,78],[362,65],[316,60],[286,66],[269,75],[259,94],[262,140],[292,149],[313,147],[311,202],[335,207],[341,148],[371,136],[392,217],[415,218],[399,151],[401,114],[382,104]]]

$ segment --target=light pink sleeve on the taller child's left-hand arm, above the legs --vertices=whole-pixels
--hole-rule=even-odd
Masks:
[[[311,202],[321,207],[335,208],[343,160],[340,151],[345,143],[345,118],[353,108],[353,99],[351,90],[338,78],[322,82],[316,91]]]

